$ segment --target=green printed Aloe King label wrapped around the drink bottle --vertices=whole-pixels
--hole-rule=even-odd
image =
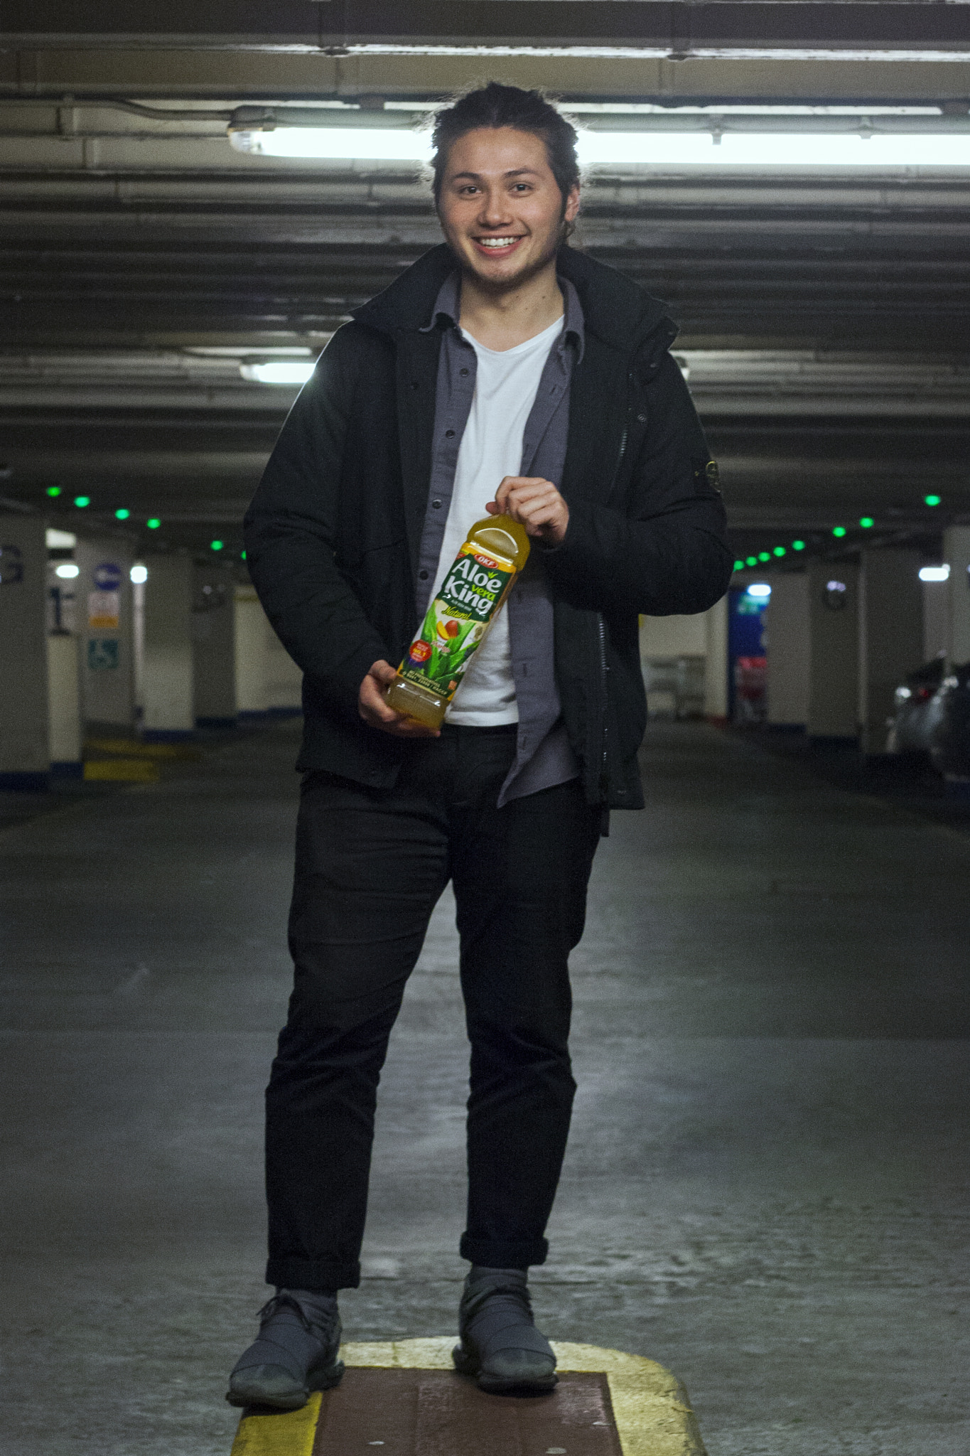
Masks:
[[[400,676],[451,699],[513,577],[508,561],[465,542],[428,607]]]

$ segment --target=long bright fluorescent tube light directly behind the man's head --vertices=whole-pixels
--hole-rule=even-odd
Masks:
[[[407,127],[276,127],[230,131],[237,151],[333,162],[428,162],[430,138]],[[588,166],[970,167],[970,132],[583,131]]]

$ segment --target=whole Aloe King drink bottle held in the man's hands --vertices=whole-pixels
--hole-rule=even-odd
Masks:
[[[529,559],[529,537],[510,515],[486,515],[444,575],[417,636],[387,687],[390,708],[439,728],[471,658]]]

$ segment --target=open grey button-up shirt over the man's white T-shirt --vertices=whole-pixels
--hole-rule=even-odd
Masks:
[[[569,387],[573,363],[583,355],[583,310],[567,278],[560,278],[566,313],[563,332],[550,349],[535,402],[522,435],[521,475],[542,476],[553,485],[563,479],[569,431]],[[458,447],[471,412],[476,390],[476,351],[460,328],[461,275],[454,272],[441,287],[426,329],[441,329],[438,393],[430,489],[420,542],[417,610],[428,610],[432,582],[441,556],[445,521],[458,464]],[[496,489],[499,480],[494,482]],[[484,504],[484,502],[483,502]],[[553,603],[545,588],[542,549],[532,546],[528,565],[506,601],[512,646],[512,676],[519,711],[516,756],[502,785],[499,805],[509,799],[566,783],[579,773],[561,718],[553,661]]]

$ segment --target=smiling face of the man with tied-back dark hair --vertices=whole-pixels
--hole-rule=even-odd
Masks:
[[[545,143],[531,131],[478,127],[452,144],[438,215],[462,268],[486,288],[505,293],[540,272],[577,211],[573,188],[563,213]]]

